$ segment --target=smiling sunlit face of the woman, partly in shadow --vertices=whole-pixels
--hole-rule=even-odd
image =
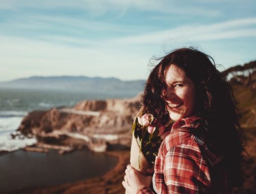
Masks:
[[[165,106],[174,121],[194,114],[196,88],[183,69],[171,64],[165,71]]]

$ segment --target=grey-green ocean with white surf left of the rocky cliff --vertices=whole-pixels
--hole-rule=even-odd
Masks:
[[[14,151],[30,144],[34,138],[12,139],[24,116],[33,110],[48,110],[51,107],[72,107],[82,100],[132,98],[135,91],[86,92],[63,90],[35,90],[0,88],[0,151]]]

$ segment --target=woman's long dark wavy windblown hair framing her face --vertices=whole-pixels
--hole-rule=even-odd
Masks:
[[[243,183],[241,165],[245,137],[240,126],[238,102],[226,78],[217,70],[214,59],[195,48],[180,48],[159,58],[147,79],[142,104],[163,124],[169,120],[162,91],[166,89],[165,70],[175,64],[196,86],[196,112],[205,120],[207,136],[216,146],[227,169],[229,186]]]

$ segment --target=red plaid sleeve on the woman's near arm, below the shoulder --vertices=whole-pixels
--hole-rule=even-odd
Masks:
[[[211,184],[209,165],[196,142],[171,148],[163,171],[167,193],[206,193]]]

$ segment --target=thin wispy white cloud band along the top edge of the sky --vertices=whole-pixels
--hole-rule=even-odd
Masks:
[[[182,7],[182,9],[180,9]],[[201,2],[198,4],[190,1],[179,0],[77,0],[77,1],[51,1],[51,0],[9,0],[0,4],[0,9],[22,9],[22,8],[70,8],[83,9],[89,11],[92,15],[100,16],[109,11],[119,11],[121,14],[129,9],[137,9],[141,11],[157,11],[166,14],[192,14],[217,16],[221,12],[210,7],[204,6]]]

